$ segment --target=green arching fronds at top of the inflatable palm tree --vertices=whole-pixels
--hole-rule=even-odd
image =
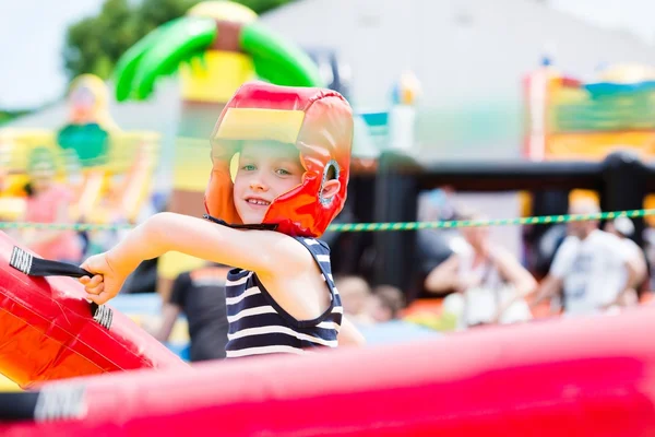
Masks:
[[[206,82],[207,76],[214,76],[212,81],[225,82],[234,72],[214,71],[213,67],[236,55],[249,58],[257,76],[271,83],[323,85],[318,67],[305,51],[255,20],[257,15],[239,3],[198,4],[187,16],[146,35],[121,57],[116,71],[117,99],[145,99],[158,78],[179,71],[184,63],[193,68],[194,61],[199,68],[182,80]],[[187,85],[183,90],[195,91],[196,84]]]

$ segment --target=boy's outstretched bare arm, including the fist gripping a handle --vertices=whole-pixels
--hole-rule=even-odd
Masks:
[[[82,268],[96,276],[80,281],[85,285],[88,298],[103,305],[119,293],[126,277],[142,261],[168,251],[254,271],[262,276],[302,271],[308,259],[311,260],[301,245],[284,234],[237,231],[165,212],[132,229],[108,252],[87,259]]]

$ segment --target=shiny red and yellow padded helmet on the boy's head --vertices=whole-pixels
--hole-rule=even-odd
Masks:
[[[243,84],[223,109],[212,133],[207,214],[228,225],[242,225],[230,174],[230,162],[241,141],[295,144],[305,168],[301,182],[269,205],[262,224],[291,236],[320,237],[346,201],[353,130],[353,110],[337,92],[263,82]],[[321,192],[329,175],[337,178],[341,187],[334,197],[324,199]]]

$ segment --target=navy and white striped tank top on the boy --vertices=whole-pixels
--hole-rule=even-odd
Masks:
[[[336,347],[343,307],[332,279],[330,247],[318,239],[297,237],[319,264],[330,290],[330,307],[313,320],[296,320],[273,299],[255,273],[233,269],[227,274],[226,307],[229,331],[227,357],[261,354],[303,354],[313,347]]]

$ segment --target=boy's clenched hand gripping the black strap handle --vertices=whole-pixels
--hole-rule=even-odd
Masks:
[[[93,277],[80,277],[80,282],[84,284],[84,291],[87,293],[86,298],[98,305],[103,305],[115,297],[128,277],[127,274],[112,268],[106,252],[90,257],[81,267],[94,273]]]

